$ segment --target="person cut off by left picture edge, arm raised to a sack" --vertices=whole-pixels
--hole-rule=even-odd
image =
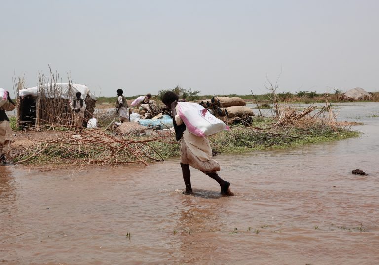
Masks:
[[[13,134],[12,128],[10,127],[9,118],[5,111],[12,111],[16,107],[16,104],[9,97],[7,102],[0,108],[0,163],[1,165],[6,165],[10,153],[11,153],[11,143],[13,142],[10,137]]]

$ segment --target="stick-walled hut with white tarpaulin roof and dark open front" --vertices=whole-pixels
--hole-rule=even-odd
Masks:
[[[17,92],[17,126],[34,128],[48,124],[52,126],[71,126],[73,124],[70,102],[81,93],[87,108],[84,113],[84,126],[93,116],[96,97],[86,85],[74,83],[47,83],[36,87],[20,89]]]

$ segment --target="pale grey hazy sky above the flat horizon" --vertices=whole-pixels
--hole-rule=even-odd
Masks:
[[[0,0],[0,87],[48,65],[97,96],[379,91],[378,0]]]

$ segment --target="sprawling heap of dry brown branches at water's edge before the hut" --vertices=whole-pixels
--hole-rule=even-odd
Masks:
[[[48,132],[47,132],[48,133]],[[28,137],[20,138],[28,139]],[[15,163],[65,163],[73,165],[117,165],[163,161],[150,145],[152,142],[169,142],[172,137],[155,134],[151,137],[122,137],[102,130],[55,132],[50,139],[34,138],[35,144],[24,146],[15,157]]]

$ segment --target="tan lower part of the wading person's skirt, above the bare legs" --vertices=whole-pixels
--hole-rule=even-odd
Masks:
[[[216,160],[210,159],[207,161],[201,161],[198,159],[186,145],[186,142],[182,139],[182,144],[180,146],[180,162],[182,164],[189,164],[195,169],[198,169],[204,173],[213,173],[220,171],[220,164]]]

